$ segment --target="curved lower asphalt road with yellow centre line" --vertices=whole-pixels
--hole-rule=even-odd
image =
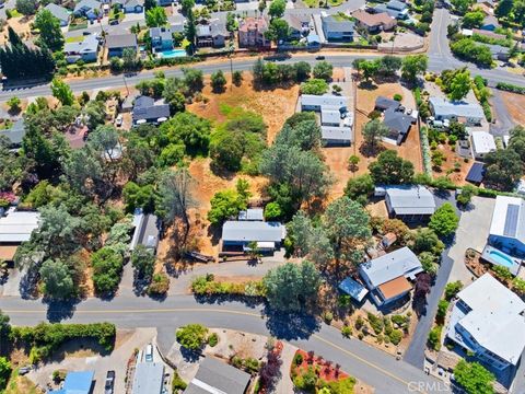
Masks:
[[[15,325],[39,322],[113,322],[118,327],[156,326],[175,333],[178,326],[201,323],[260,335],[272,335],[341,364],[342,370],[373,385],[378,394],[443,393],[447,386],[404,361],[310,317],[267,315],[260,305],[241,302],[199,303],[194,297],[177,296],[163,302],[148,298],[117,297],[110,302],[88,299],[74,309],[47,305],[39,300],[2,298],[1,308]],[[174,335],[173,335],[174,337]]]

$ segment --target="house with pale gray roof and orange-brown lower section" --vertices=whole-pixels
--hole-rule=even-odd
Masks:
[[[359,266],[359,275],[370,290],[372,300],[386,305],[401,299],[412,290],[410,281],[416,279],[423,267],[407,246]]]

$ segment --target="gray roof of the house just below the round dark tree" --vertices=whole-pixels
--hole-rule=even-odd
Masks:
[[[386,186],[388,204],[396,215],[432,215],[435,200],[427,187],[419,185]]]

